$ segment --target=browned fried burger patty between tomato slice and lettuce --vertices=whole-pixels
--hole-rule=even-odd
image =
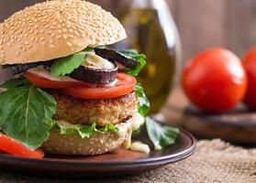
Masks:
[[[48,91],[57,102],[56,120],[71,124],[120,124],[128,120],[137,109],[135,92],[108,100],[83,100],[59,91]]]

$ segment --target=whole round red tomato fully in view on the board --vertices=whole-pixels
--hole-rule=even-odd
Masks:
[[[188,62],[182,82],[190,101],[209,113],[228,112],[247,89],[239,58],[224,48],[207,49]]]

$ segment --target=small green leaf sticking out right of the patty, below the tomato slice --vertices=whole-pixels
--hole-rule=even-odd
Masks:
[[[146,116],[149,111],[150,111],[150,102],[141,86],[140,83],[136,83],[136,95],[139,99],[138,102],[138,112],[142,115],[142,116]]]

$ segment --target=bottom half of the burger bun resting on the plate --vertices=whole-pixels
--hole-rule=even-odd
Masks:
[[[61,135],[60,129],[50,132],[50,137],[40,148],[48,154],[66,156],[101,155],[123,146],[128,148],[133,131],[132,121],[117,124],[118,132],[95,133],[89,138],[82,138],[78,133]]]

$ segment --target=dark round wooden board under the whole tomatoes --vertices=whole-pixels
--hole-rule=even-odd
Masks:
[[[241,107],[230,113],[208,114],[189,106],[182,125],[202,138],[221,138],[236,144],[256,143],[256,113]]]

